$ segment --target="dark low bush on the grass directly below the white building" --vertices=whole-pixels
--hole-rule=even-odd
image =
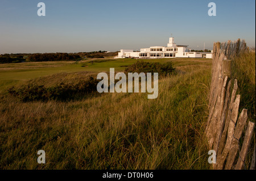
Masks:
[[[144,62],[137,61],[135,64],[128,66],[125,73],[158,73],[159,77],[166,77],[168,74],[174,74],[175,69],[172,67],[172,62],[160,64],[159,62]]]

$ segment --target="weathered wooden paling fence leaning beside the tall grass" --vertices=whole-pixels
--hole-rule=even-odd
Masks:
[[[214,169],[232,169],[237,153],[239,159],[235,169],[242,169],[243,162],[250,145],[254,123],[249,122],[245,136],[243,128],[247,121],[247,110],[243,109],[239,118],[240,95],[236,95],[238,85],[234,79],[234,87],[230,95],[232,61],[247,49],[244,40],[235,42],[214,43],[212,60],[212,80],[209,94],[209,116],[205,128],[209,149],[217,153]],[[242,136],[243,135],[243,136]],[[240,151],[240,138],[243,145]],[[225,162],[226,161],[226,162]],[[255,148],[251,162],[255,169]]]

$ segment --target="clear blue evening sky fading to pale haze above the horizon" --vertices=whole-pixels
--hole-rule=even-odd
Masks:
[[[191,49],[238,38],[255,47],[255,0],[0,0],[0,54],[140,50],[171,34]]]

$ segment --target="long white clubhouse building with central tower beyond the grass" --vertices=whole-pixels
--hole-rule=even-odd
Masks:
[[[169,38],[167,47],[150,47],[141,48],[140,52],[134,50],[121,49],[118,56],[115,58],[212,58],[212,52],[191,52],[188,45],[176,45],[174,37]]]

